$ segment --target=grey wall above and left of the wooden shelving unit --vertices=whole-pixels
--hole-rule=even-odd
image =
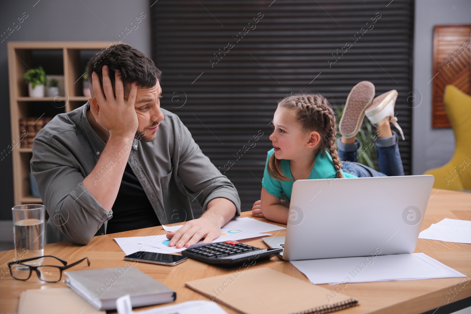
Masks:
[[[141,12],[146,17],[123,42],[151,56],[149,0],[16,0],[3,1],[0,33],[24,12],[28,17],[0,43],[0,151],[11,144],[7,41],[118,41]],[[154,1],[153,1],[154,2]],[[16,26],[17,27],[17,26]],[[11,219],[13,171],[11,154],[0,161],[0,219]],[[17,205],[17,204],[15,204]]]

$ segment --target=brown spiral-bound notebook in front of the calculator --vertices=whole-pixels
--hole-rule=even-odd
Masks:
[[[243,314],[330,313],[358,301],[270,268],[186,282],[185,285]]]

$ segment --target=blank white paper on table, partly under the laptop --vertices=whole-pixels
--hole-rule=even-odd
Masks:
[[[424,253],[291,261],[314,284],[466,277]]]

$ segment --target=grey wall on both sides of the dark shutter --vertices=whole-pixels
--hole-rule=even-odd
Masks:
[[[154,2],[154,1],[151,1]],[[0,33],[28,14],[21,28],[7,41],[23,40],[116,40],[139,15],[146,18],[130,32],[125,42],[151,56],[149,0],[41,0],[8,1],[0,10]],[[34,7],[33,7],[34,6]],[[434,24],[470,24],[470,0],[417,0],[414,33],[413,171],[445,164],[452,156],[455,141],[451,129],[431,129],[432,31]],[[100,22],[101,21],[101,22]],[[11,144],[7,41],[0,43],[0,151]],[[400,122],[400,121],[399,121]],[[13,171],[11,155],[0,161],[0,219],[11,219]]]

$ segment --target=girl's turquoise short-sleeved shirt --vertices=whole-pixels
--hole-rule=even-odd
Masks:
[[[281,171],[283,174],[290,179],[290,181],[278,181],[270,177],[268,174],[268,161],[270,156],[275,153],[275,149],[272,148],[268,151],[267,162],[265,163],[265,172],[263,173],[262,186],[267,190],[268,193],[275,197],[281,197],[283,194],[291,201],[291,190],[293,188],[293,177],[290,169],[290,161],[287,159],[282,159]],[[343,177],[351,178],[357,177],[355,175],[345,173],[341,171]],[[328,151],[324,153],[319,152],[312,166],[311,173],[309,174],[309,179],[333,179],[337,175],[337,171],[333,167],[332,157]]]

